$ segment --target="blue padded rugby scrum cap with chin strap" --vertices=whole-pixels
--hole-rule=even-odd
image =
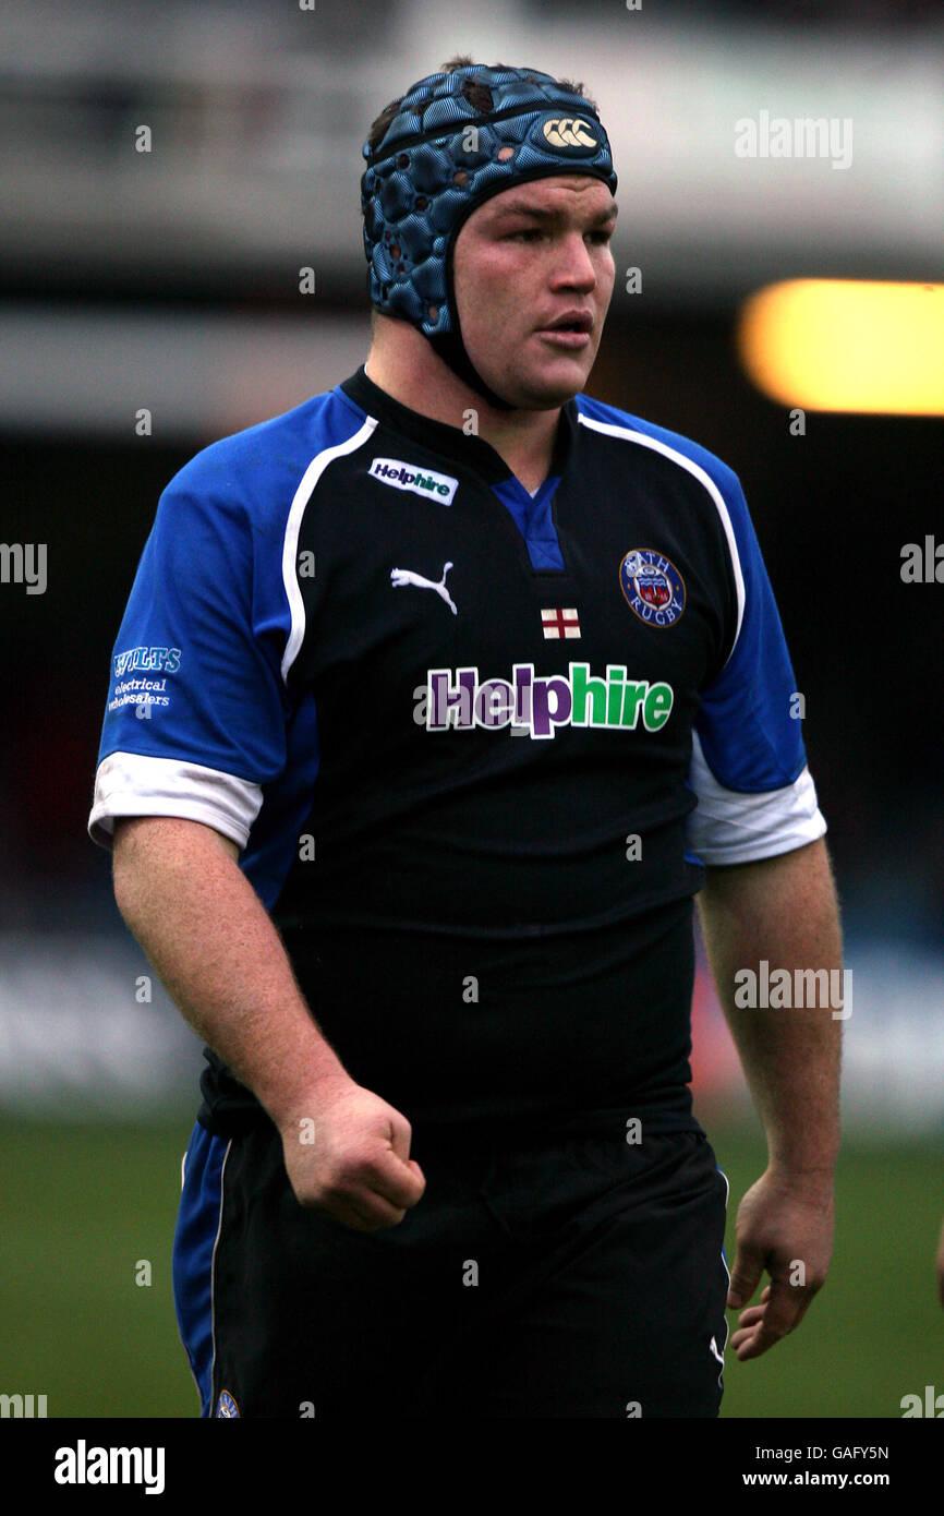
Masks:
[[[456,236],[477,206],[512,183],[592,174],[615,194],[609,139],[594,108],[535,68],[471,64],[420,79],[377,147],[365,143],[361,152],[371,303],[415,326],[455,373],[508,409],[462,343]]]

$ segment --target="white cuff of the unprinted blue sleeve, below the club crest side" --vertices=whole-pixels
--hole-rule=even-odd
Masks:
[[[826,832],[809,769],[780,790],[761,794],[726,790],[708,767],[699,734],[692,732],[688,782],[699,807],[688,817],[685,841],[706,864],[776,858]]]

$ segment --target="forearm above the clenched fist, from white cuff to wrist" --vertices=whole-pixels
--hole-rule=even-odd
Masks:
[[[115,899],[191,1026],[277,1125],[350,1082],[295,984],[285,948],[236,863],[197,822],[120,822]]]

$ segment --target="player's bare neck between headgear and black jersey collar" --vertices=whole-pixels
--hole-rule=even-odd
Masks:
[[[395,349],[389,341],[374,340],[367,358],[367,377],[400,405],[459,431],[468,431],[470,412],[474,412],[477,435],[495,449],[526,490],[536,490],[550,471],[561,408],[497,411],[462,384],[424,337],[411,330],[397,335],[405,341],[399,341]],[[411,341],[414,337],[421,349]]]

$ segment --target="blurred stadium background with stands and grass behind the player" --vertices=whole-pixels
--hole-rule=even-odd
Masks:
[[[364,359],[361,143],[458,50],[599,100],[621,214],[589,388],[738,470],[806,697],[855,987],[838,1243],[802,1331],[729,1360],[724,1414],[944,1390],[944,590],[900,575],[944,540],[941,406],[932,381],[924,414],[839,399],[799,431],[739,335],[779,280],[941,280],[941,6],[32,0],[0,27],[0,540],[47,544],[44,593],[0,584],[0,1392],[195,1413],[170,1242],[200,1054],[85,835],[108,659],[176,468]],[[738,156],[762,112],[849,120],[852,161]],[[762,1142],[703,969],[694,1043],[733,1223]]]

